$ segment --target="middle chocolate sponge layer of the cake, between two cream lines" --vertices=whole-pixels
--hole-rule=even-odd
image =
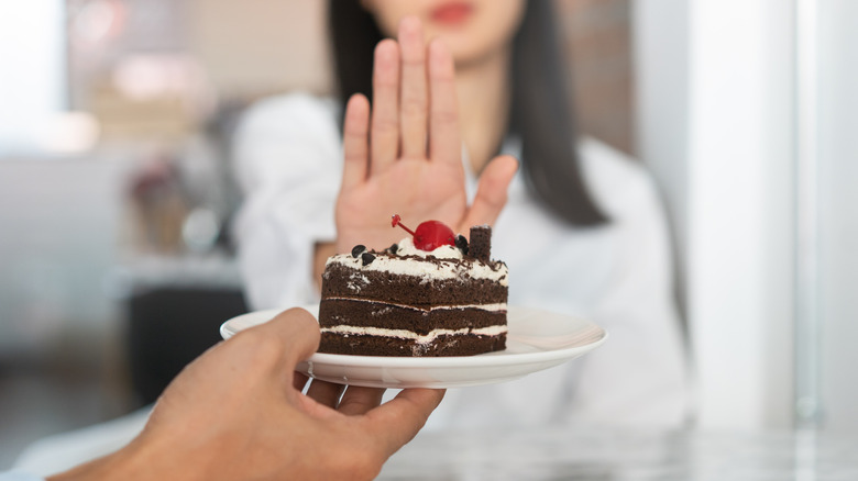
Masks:
[[[506,309],[451,306],[431,311],[365,300],[324,299],[319,305],[319,325],[406,329],[426,335],[435,329],[480,328],[506,325]]]

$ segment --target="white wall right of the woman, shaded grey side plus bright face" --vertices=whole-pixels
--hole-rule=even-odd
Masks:
[[[781,0],[636,2],[641,153],[685,265],[698,424],[792,420],[792,18]]]

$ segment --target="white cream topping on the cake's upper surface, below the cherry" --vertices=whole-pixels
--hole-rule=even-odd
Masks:
[[[402,240],[406,243],[406,240]],[[410,242],[410,240],[408,240]],[[339,254],[337,256],[328,258],[328,264],[341,264],[349,266],[359,271],[377,271],[387,272],[400,276],[416,276],[422,278],[429,282],[433,279],[458,279],[465,276],[470,276],[473,279],[488,279],[498,282],[501,286],[508,286],[509,272],[504,264],[496,265],[497,270],[492,270],[487,264],[481,261],[469,262],[469,266],[461,264],[458,258],[441,258],[435,256],[435,253],[439,253],[444,248],[459,251],[459,249],[444,246],[432,250],[431,253],[424,253],[420,257],[432,256],[436,257],[436,261],[421,260],[421,259],[404,259],[398,256],[387,257],[377,256],[375,260],[363,265],[363,260],[360,257],[352,257],[349,254]],[[407,254],[406,254],[407,253]],[[397,250],[399,255],[410,255],[408,249],[405,253]],[[441,253],[439,253],[441,254]],[[461,257],[461,253],[459,253]],[[440,260],[440,261],[438,261]]]

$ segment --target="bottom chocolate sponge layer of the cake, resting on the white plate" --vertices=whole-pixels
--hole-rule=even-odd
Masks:
[[[322,333],[319,353],[354,356],[442,357],[474,356],[506,348],[506,334],[497,336],[440,336],[431,343],[382,336]]]

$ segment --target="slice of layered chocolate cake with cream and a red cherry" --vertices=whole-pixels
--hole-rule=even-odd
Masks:
[[[471,356],[506,347],[508,272],[490,260],[491,228],[473,227],[470,246],[450,231],[436,247],[421,233],[425,224],[415,240],[384,251],[356,246],[328,259],[320,353]]]

